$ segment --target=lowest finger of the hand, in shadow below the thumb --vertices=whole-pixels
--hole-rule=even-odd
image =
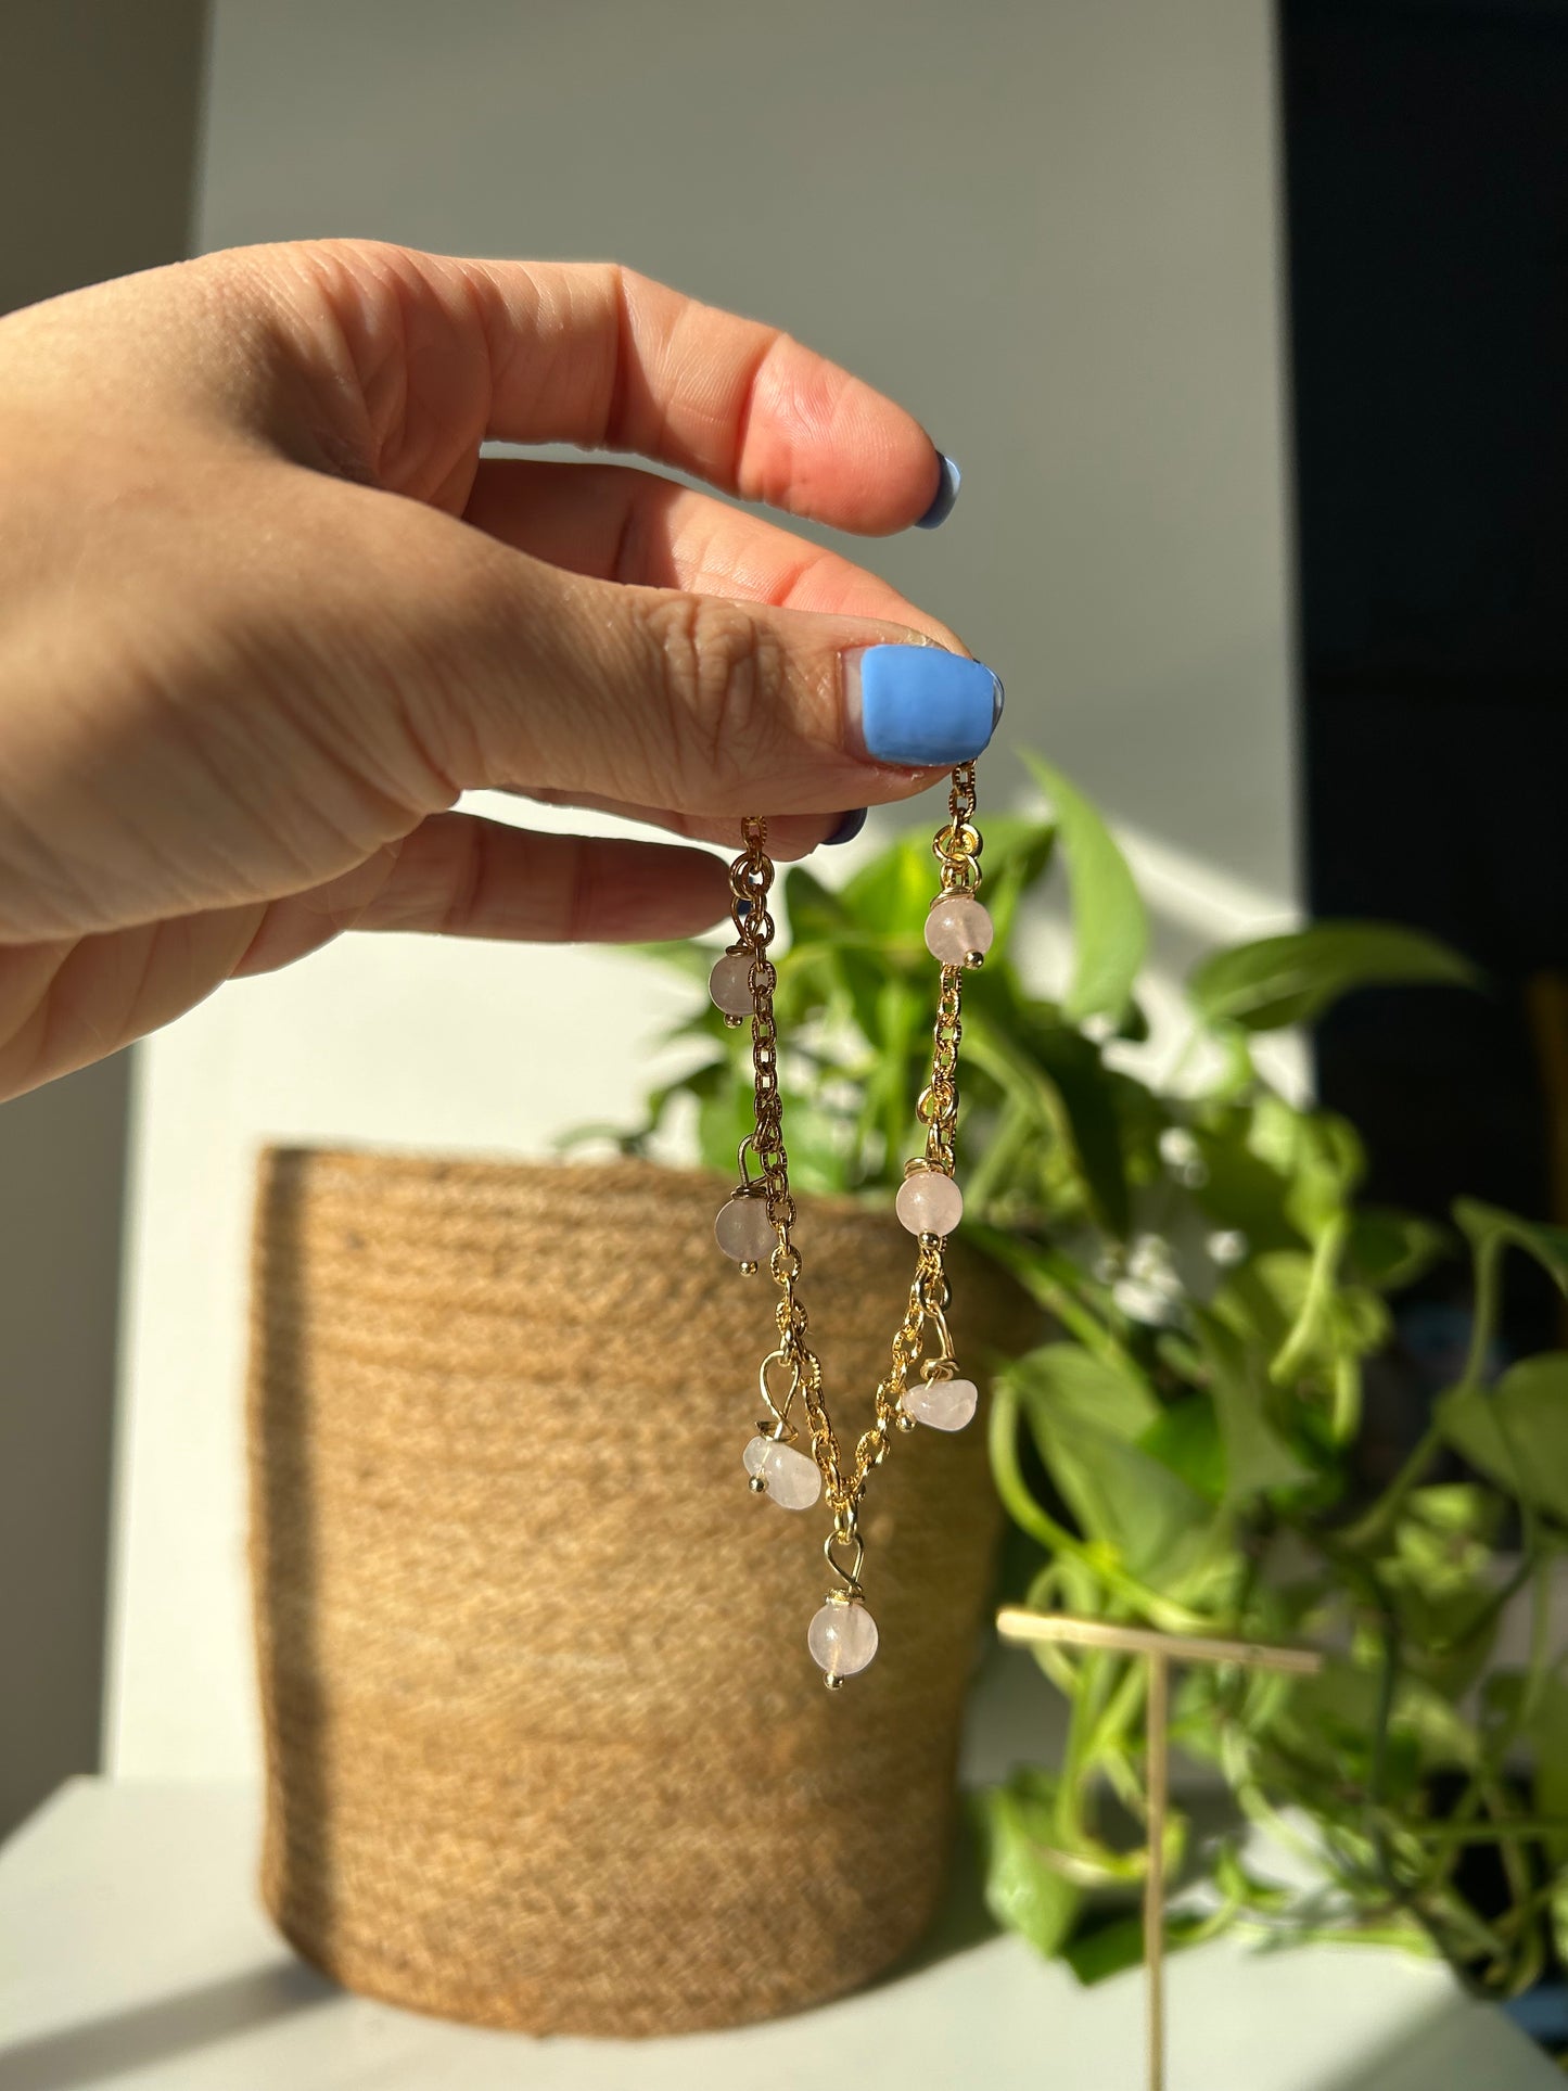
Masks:
[[[692,937],[730,910],[719,857],[663,843],[531,834],[435,813],[343,878],[268,907],[234,976],[272,972],[349,928],[521,943]]]

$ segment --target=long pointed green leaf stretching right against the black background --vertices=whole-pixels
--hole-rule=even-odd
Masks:
[[[1436,937],[1392,922],[1313,922],[1202,960],[1187,995],[1206,1025],[1309,1025],[1357,987],[1474,987],[1476,968]]]

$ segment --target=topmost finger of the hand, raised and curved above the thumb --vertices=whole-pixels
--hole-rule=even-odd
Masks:
[[[485,437],[636,452],[866,533],[907,529],[945,485],[901,406],[774,326],[613,263],[320,240],[209,266],[253,284],[293,391],[316,381],[370,477],[422,500],[462,506]]]

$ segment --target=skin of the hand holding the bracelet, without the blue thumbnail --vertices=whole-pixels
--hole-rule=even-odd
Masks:
[[[240,249],[0,320],[0,1096],[351,928],[682,937],[723,859],[454,811],[502,786],[803,855],[937,772],[855,751],[840,654],[941,623],[571,441],[849,531],[920,424],[613,266]]]

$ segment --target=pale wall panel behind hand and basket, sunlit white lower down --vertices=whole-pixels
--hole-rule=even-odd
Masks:
[[[1177,918],[1206,891],[1252,920],[1294,893],[1269,19],[220,0],[203,245],[615,255],[886,385],[964,496],[868,562],[1006,675],[1008,736],[1142,832]],[[991,803],[1014,776],[985,763]],[[226,989],[144,1054],[117,1769],[253,1761],[255,1148],[537,1154],[631,1108],[667,995],[604,953],[366,937]]]

